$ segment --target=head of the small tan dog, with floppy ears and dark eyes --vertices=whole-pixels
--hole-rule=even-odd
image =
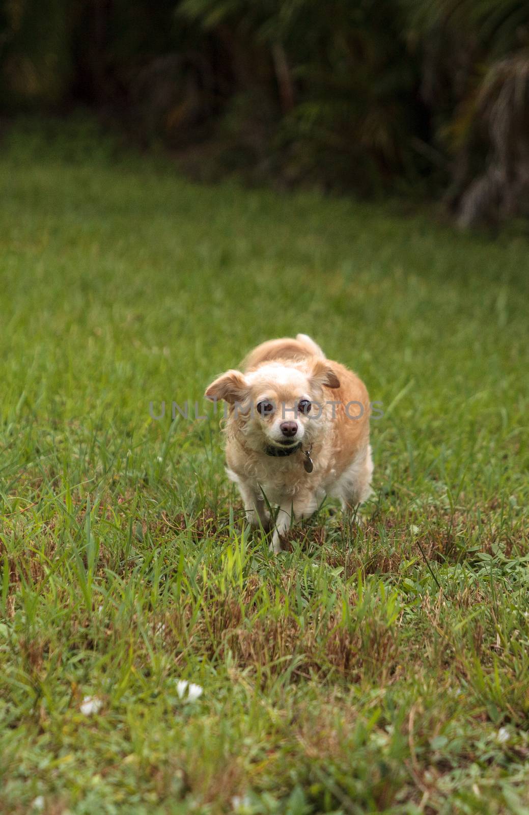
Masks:
[[[206,399],[224,399],[230,416],[254,450],[288,451],[311,443],[322,425],[324,388],[340,382],[326,359],[289,365],[266,363],[249,373],[227,371],[205,391]]]

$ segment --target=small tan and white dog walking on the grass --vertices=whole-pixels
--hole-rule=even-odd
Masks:
[[[277,553],[293,519],[311,515],[324,496],[340,498],[345,510],[368,498],[368,391],[306,334],[263,342],[243,370],[223,373],[205,396],[230,405],[227,474],[249,522],[268,530],[267,506],[279,505],[271,542]]]

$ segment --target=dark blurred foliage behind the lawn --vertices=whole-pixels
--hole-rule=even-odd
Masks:
[[[0,105],[80,106],[201,178],[527,214],[527,0],[0,0]]]

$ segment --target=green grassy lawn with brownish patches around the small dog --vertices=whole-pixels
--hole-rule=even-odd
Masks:
[[[529,242],[23,148],[0,811],[528,813]],[[202,394],[299,331],[382,403],[375,494],[359,531],[327,505],[273,557]]]

